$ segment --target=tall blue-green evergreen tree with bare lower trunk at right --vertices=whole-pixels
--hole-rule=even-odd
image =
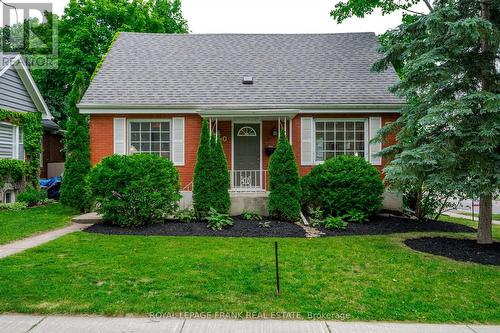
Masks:
[[[394,91],[407,99],[400,118],[381,131],[397,132],[388,180],[425,171],[427,191],[480,198],[478,242],[492,242],[492,197],[500,188],[500,4],[437,1],[390,32],[384,70],[400,61]],[[427,170],[425,169],[427,168]]]

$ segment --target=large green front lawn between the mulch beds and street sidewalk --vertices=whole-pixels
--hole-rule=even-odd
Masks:
[[[402,243],[429,234],[279,239],[282,295],[275,297],[274,239],[78,232],[0,260],[0,312],[312,312],[500,323],[500,268]]]

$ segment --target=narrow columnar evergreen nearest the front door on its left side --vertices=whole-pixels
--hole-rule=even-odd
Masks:
[[[231,208],[229,196],[229,169],[222,141],[217,135],[212,135],[212,171],[214,191],[212,193],[212,208],[217,212],[228,214]]]

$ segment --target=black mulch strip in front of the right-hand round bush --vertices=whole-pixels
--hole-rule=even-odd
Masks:
[[[456,223],[442,221],[425,221],[409,219],[402,216],[377,215],[363,224],[349,223],[347,229],[326,229],[317,227],[326,236],[347,235],[387,235],[393,233],[436,231],[436,232],[476,232],[475,229]]]

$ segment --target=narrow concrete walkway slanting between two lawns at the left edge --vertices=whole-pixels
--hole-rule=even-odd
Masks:
[[[83,230],[87,227],[89,226],[84,224],[73,223],[61,229],[47,231],[42,234],[38,234],[36,236],[31,236],[18,241],[14,241],[12,243],[0,245],[0,259],[11,256],[19,252],[23,252],[26,249],[30,249],[32,247],[50,242],[56,238],[67,235],[69,233]],[[0,332],[2,332],[2,330],[0,330]]]

